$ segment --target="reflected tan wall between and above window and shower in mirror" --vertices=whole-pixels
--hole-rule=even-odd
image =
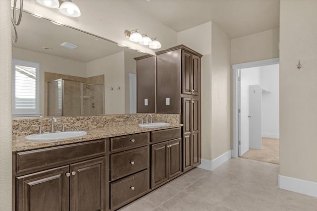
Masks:
[[[45,53],[12,48],[12,58],[40,63],[40,113],[45,112],[44,72],[86,77],[86,63]]]

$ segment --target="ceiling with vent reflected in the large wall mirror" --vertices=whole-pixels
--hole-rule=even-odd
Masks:
[[[82,62],[89,62],[122,51],[135,53],[135,57],[144,55],[144,53],[119,47],[115,43],[93,35],[66,26],[55,25],[49,20],[34,17],[26,12],[23,12],[17,32],[18,42],[12,44],[12,47]],[[60,46],[64,42],[75,44],[78,47],[74,50],[65,49]],[[43,47],[49,47],[52,50],[44,50]]]

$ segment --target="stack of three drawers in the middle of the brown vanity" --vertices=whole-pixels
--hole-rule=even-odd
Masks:
[[[149,191],[149,140],[149,132],[110,138],[110,210]]]

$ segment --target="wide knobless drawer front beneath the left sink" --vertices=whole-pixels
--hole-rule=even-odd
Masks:
[[[106,153],[105,140],[16,153],[16,172],[39,169]]]

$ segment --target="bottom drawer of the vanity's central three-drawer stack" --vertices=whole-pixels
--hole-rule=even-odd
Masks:
[[[110,209],[114,210],[138,198],[149,190],[148,170],[110,184]]]

